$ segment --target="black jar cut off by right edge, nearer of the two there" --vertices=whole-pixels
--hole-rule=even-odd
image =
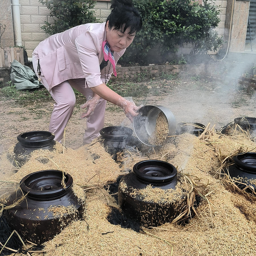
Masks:
[[[234,180],[235,184],[247,192],[256,192],[256,153],[247,152],[233,157],[234,164],[225,170]]]

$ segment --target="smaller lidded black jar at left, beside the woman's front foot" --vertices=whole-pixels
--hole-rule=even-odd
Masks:
[[[34,150],[53,150],[55,135],[46,131],[24,132],[17,137],[18,143],[14,146],[13,153],[9,152],[8,158],[17,167],[24,165]]]

